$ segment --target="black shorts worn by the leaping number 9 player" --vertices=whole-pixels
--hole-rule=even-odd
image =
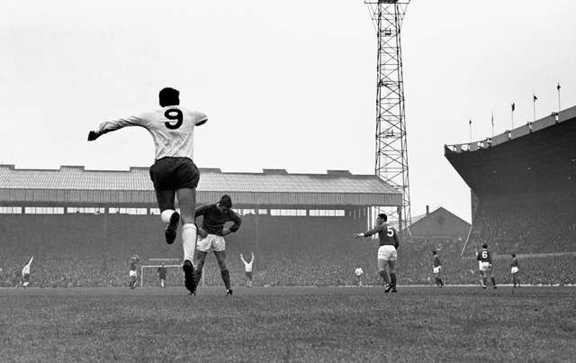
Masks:
[[[166,157],[157,159],[150,167],[150,178],[155,190],[195,188],[200,171],[191,159]]]

